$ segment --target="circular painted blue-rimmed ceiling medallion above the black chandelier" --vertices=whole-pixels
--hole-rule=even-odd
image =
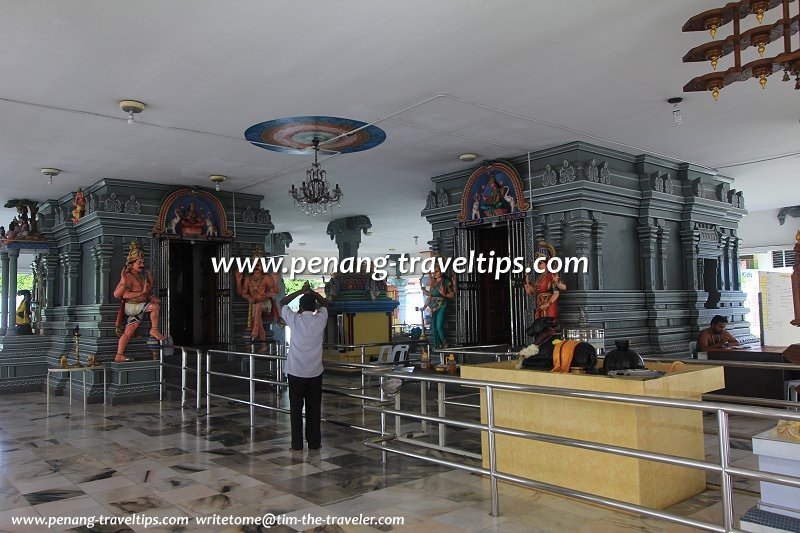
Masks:
[[[366,127],[364,127],[366,126]],[[314,138],[325,143],[329,139],[362,128],[352,135],[322,144],[321,152],[349,154],[369,150],[386,140],[386,133],[366,122],[338,117],[289,117],[269,120],[247,128],[244,137],[259,148],[285,154],[308,154]]]

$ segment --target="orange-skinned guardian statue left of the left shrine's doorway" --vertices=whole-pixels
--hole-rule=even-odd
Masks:
[[[114,289],[114,297],[122,300],[117,314],[117,334],[120,337],[114,361],[131,360],[125,356],[125,347],[136,333],[136,328],[146,313],[150,314],[150,336],[159,342],[164,341],[164,336],[158,330],[161,300],[158,296],[151,294],[154,286],[153,274],[144,268],[144,252],[136,240],[131,241],[125,268],[122,269],[119,283]],[[126,320],[125,317],[127,317]],[[125,320],[124,329],[122,327],[123,320]]]

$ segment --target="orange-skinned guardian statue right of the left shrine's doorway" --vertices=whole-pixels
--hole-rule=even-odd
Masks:
[[[264,252],[260,246],[253,249],[250,258],[255,263],[252,273],[244,275],[236,272],[236,293],[250,304],[247,318],[250,338],[264,342],[267,336],[264,329],[265,317],[267,320],[276,320],[281,327],[286,325],[275,301],[275,296],[281,290],[281,282],[277,272],[264,272]]]

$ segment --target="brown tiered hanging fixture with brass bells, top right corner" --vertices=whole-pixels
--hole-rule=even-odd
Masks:
[[[793,1],[740,0],[690,18],[683,25],[683,31],[708,30],[711,38],[715,39],[717,30],[733,21],[733,34],[692,48],[683,57],[683,62],[709,61],[712,70],[716,71],[719,60],[733,53],[734,65],[724,72],[711,72],[694,78],[684,86],[684,92],[711,91],[716,100],[726,85],[750,78],[757,79],[764,89],[767,86],[767,77],[781,70],[783,81],[789,81],[794,76],[794,88],[800,91],[800,42],[792,50],[792,39],[800,24],[800,14],[790,15],[789,4]],[[783,8],[782,17],[773,24],[762,25],[764,13],[778,6]],[[750,15],[755,15],[758,25],[742,32],[740,21]],[[773,57],[764,57],[767,45],[781,40],[783,52]],[[758,50],[760,59],[742,65],[742,51],[749,47]]]

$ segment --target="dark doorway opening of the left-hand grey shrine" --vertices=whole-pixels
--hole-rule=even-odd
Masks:
[[[208,345],[217,335],[215,243],[170,242],[169,331],[176,345]]]

